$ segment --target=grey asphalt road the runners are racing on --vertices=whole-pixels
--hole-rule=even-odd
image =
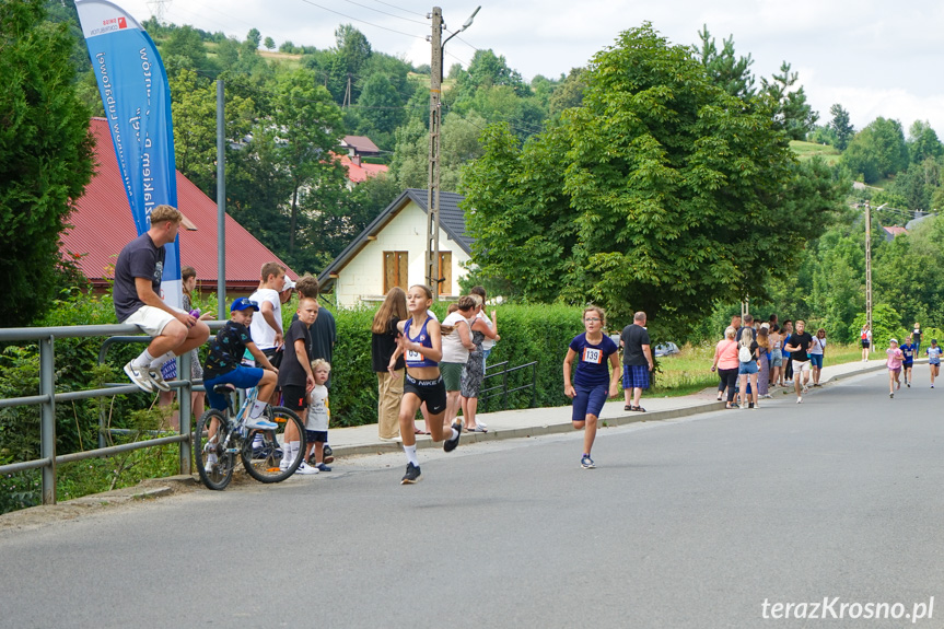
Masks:
[[[8,531],[0,627],[942,627],[944,389],[885,377]]]

